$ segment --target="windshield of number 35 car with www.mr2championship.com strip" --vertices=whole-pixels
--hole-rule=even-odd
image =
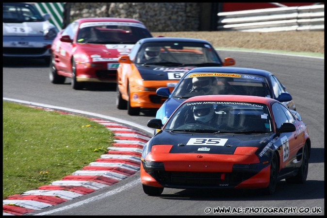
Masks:
[[[163,128],[169,132],[262,134],[273,130],[265,104],[191,101],[182,104]]]

